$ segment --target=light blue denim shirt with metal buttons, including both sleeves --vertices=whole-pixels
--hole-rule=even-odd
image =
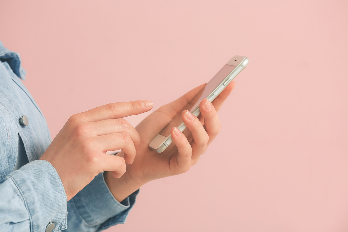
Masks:
[[[139,190],[122,202],[114,199],[103,173],[67,201],[55,168],[39,160],[52,142],[46,120],[23,86],[18,53],[0,42],[0,231],[101,231],[125,223]],[[28,126],[19,123],[23,115]],[[23,143],[23,144],[22,144]],[[28,163],[14,171],[17,155]]]

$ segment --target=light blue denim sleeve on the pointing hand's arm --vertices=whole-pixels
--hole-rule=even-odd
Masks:
[[[67,226],[64,187],[54,167],[35,160],[0,181],[0,231],[55,231]]]

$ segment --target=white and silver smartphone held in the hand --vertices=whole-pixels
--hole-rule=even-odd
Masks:
[[[171,137],[171,130],[173,127],[177,127],[183,132],[187,127],[182,121],[181,114],[185,110],[190,111],[196,117],[199,116],[199,103],[207,98],[209,101],[219,95],[224,88],[243,70],[248,64],[249,59],[245,56],[234,56],[227,62],[222,69],[205,85],[205,87],[199,91],[199,93],[187,104],[182,110],[173,118],[168,125],[156,135],[155,138],[149,144],[151,150],[158,153],[163,152],[173,142]]]

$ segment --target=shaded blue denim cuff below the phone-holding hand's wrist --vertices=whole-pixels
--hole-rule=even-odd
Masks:
[[[139,190],[118,202],[106,185],[103,173],[99,173],[72,200],[80,216],[89,226],[103,224],[100,229],[106,229],[125,223],[138,193]]]

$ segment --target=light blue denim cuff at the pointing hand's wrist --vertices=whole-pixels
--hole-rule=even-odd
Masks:
[[[56,169],[46,160],[35,160],[10,173],[30,216],[31,231],[53,222],[53,231],[67,227],[67,199]]]

